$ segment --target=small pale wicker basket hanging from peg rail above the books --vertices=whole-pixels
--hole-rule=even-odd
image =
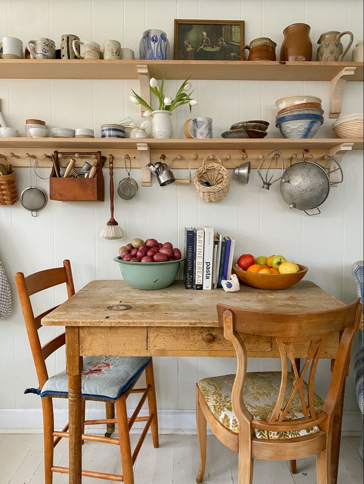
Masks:
[[[229,173],[222,166],[221,159],[214,153],[212,156],[218,163],[206,165],[211,155],[205,156],[201,168],[195,173],[194,183],[201,198],[207,202],[219,202],[229,191]],[[205,183],[208,183],[209,186],[206,186]]]

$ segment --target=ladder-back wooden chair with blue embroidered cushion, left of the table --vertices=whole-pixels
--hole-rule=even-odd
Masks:
[[[41,328],[41,319],[55,307],[38,316],[34,316],[30,296],[45,289],[66,284],[68,299],[74,293],[71,265],[69,260],[63,261],[63,267],[36,272],[24,277],[22,272],[15,274],[15,282],[28,332],[29,343],[37,371],[39,388],[27,389],[26,393],[37,393],[42,398],[43,427],[44,427],[44,461],[45,484],[52,484],[54,472],[68,473],[67,467],[53,465],[53,449],[62,437],[68,438],[68,424],[62,431],[54,431],[53,398],[68,398],[68,377],[61,371],[51,377],[48,376],[45,360],[52,353],[65,344],[65,333],[62,333],[47,344],[41,346],[38,330]],[[105,479],[108,481],[133,484],[133,464],[137,458],[149,427],[152,430],[153,444],[158,447],[158,423],[156,408],[156,392],[152,358],[149,357],[84,357],[82,373],[82,439],[116,444],[120,447],[123,475],[107,474],[102,472],[82,471],[83,476]],[[146,387],[134,388],[140,375],[146,373]],[[126,412],[126,399],[130,393],[142,393],[140,402],[133,415],[128,419]],[[143,403],[148,399],[149,416],[138,417]],[[85,421],[86,400],[103,401],[106,404],[106,419]],[[116,418],[114,411],[116,407]],[[131,452],[129,431],[134,422],[146,422],[134,452]],[[118,426],[119,438],[111,438]],[[104,437],[84,433],[85,425],[106,424],[107,431]]]

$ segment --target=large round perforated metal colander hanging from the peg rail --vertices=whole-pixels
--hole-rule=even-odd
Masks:
[[[284,172],[280,182],[280,191],[283,200],[290,208],[303,210],[307,215],[318,215],[318,206],[323,203],[329,192],[330,186],[337,185],[344,180],[343,171],[339,163],[331,156],[324,167],[318,165],[321,156],[315,162],[301,161],[294,163]],[[291,158],[292,161],[292,158]],[[331,181],[331,174],[339,172],[340,178]],[[316,209],[314,213],[308,210]]]

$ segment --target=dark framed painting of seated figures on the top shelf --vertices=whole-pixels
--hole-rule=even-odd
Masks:
[[[241,60],[244,20],[174,20],[174,59]]]

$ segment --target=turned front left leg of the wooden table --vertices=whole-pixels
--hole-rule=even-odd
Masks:
[[[66,327],[66,372],[68,375],[69,484],[81,484],[81,372],[78,327]]]

